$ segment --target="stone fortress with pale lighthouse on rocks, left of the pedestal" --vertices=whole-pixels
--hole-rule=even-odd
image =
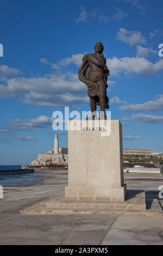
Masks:
[[[68,166],[68,149],[59,148],[58,134],[55,134],[54,149],[48,153],[39,153],[36,160],[30,163],[30,167],[66,167]]]

